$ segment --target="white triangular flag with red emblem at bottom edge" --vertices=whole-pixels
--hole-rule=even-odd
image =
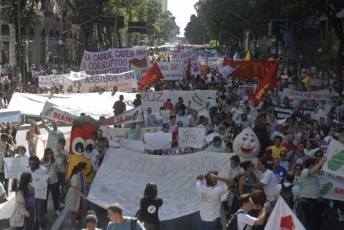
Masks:
[[[297,218],[295,213],[287,205],[286,201],[279,196],[277,203],[270,214],[268,222],[266,223],[265,229],[269,230],[284,230],[284,229],[297,229],[305,230],[300,220]]]

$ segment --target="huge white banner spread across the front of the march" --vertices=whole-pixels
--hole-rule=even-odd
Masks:
[[[160,220],[186,216],[200,209],[196,176],[217,170],[228,177],[230,157],[202,151],[180,156],[153,156],[127,149],[109,149],[91,185],[88,200],[107,209],[118,202],[125,215],[134,216],[147,182],[155,182],[164,205]],[[219,185],[223,185],[219,182]]]

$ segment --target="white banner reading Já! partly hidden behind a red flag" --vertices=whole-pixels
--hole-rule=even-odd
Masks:
[[[178,80],[183,78],[184,72],[182,70],[182,63],[179,61],[160,61],[157,64],[162,76],[164,76],[164,79],[161,79],[162,81]],[[135,70],[138,80],[141,80],[146,76],[149,70],[151,70],[151,65],[149,67],[132,67],[131,70]]]

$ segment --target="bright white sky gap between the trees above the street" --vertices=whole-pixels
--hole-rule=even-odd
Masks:
[[[191,14],[196,14],[193,6],[197,3],[197,0],[168,0],[167,10],[171,11],[175,17],[175,22],[180,28],[180,35],[184,36],[184,28],[190,21]]]

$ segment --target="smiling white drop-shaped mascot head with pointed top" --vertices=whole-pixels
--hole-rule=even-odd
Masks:
[[[251,127],[244,129],[233,141],[236,154],[244,158],[253,158],[259,154],[260,143]]]

